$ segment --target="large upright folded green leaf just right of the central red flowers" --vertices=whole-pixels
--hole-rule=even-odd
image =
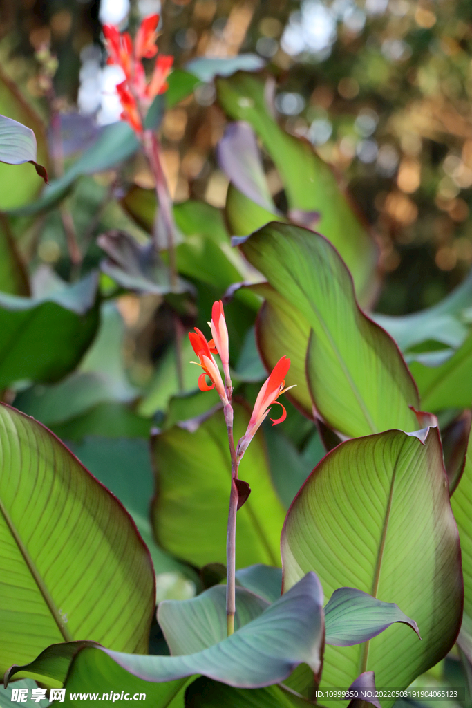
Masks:
[[[349,271],[329,241],[307,229],[273,222],[243,241],[241,248],[275,290],[275,295],[265,291],[272,306],[269,324],[264,314],[258,321],[263,358],[273,365],[284,343],[285,354],[292,356],[296,350],[287,384],[301,384],[301,394],[293,396],[299,396],[304,409],[306,353],[313,404],[329,426],[349,437],[418,428],[410,410],[419,407],[418,392],[401,353],[359,309]]]

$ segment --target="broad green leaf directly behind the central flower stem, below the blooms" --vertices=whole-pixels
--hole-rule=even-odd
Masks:
[[[234,406],[234,438],[246,431],[246,409]],[[231,459],[223,411],[199,427],[175,426],[152,442],[157,471],[154,530],[169,552],[197,566],[226,563]],[[190,432],[193,430],[193,432]],[[261,435],[251,442],[240,467],[252,493],[238,511],[236,566],[278,565],[284,510],[272,488]]]

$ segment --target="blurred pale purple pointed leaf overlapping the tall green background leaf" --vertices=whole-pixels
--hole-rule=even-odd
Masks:
[[[229,181],[253,202],[277,215],[251,125],[242,120],[230,123],[217,152],[219,166]]]

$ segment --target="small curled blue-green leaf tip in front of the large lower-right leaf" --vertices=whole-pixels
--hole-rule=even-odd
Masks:
[[[326,644],[361,644],[394,622],[409,624],[420,636],[414,619],[407,617],[395,603],[384,603],[355,588],[338,588],[325,607]]]

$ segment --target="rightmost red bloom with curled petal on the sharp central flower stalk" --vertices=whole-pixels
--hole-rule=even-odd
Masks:
[[[255,435],[256,430],[258,430],[259,426],[263,423],[263,421],[265,421],[265,418],[267,418],[267,416],[269,415],[270,406],[275,403],[279,406],[282,406],[280,401],[277,401],[277,398],[280,396],[280,394],[284,394],[286,391],[293,388],[293,386],[284,388],[284,379],[287,375],[289,368],[290,360],[287,359],[286,356],[282,356],[282,358],[277,361],[277,364],[272,369],[270,377],[266,379],[263,383],[258,397],[257,399],[255,399],[253,414],[251,416],[251,420],[249,421],[248,429],[246,430],[246,433],[243,435],[243,437],[239,440],[238,447],[236,448],[236,456],[238,457],[238,459],[241,459],[241,457],[243,457],[244,453],[248,448],[249,443]],[[282,416],[280,416],[280,418],[275,419],[270,418],[270,420],[272,421],[272,426],[276,426],[277,423],[282,423],[285,418],[287,418],[287,411],[284,409],[284,406],[282,406]]]

